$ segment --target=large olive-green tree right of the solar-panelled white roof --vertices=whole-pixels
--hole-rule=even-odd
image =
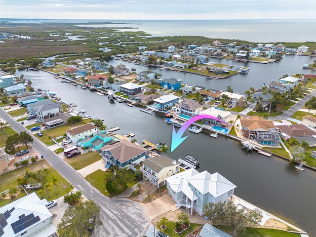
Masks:
[[[94,223],[89,223],[89,219],[94,218]],[[71,228],[63,228],[71,223]],[[95,203],[94,200],[87,200],[75,208],[66,209],[61,222],[57,225],[58,234],[61,237],[84,237],[90,236],[88,229],[90,225],[102,226],[100,219],[100,207]],[[63,228],[63,229],[62,229]]]

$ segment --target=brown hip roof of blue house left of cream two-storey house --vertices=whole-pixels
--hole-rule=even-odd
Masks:
[[[122,139],[115,144],[102,147],[101,150],[111,152],[114,158],[120,163],[124,163],[147,151],[145,148],[141,148],[139,145],[125,139]]]

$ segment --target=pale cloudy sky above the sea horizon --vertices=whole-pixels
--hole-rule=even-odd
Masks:
[[[0,0],[1,18],[316,19],[316,0]]]

